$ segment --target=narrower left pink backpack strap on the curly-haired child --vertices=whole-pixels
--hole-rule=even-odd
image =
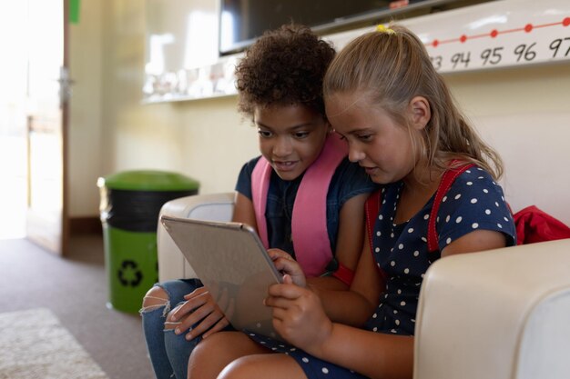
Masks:
[[[251,173],[251,197],[253,202],[253,211],[255,213],[255,220],[258,224],[258,234],[260,234],[261,242],[266,249],[270,248],[270,242],[267,233],[265,209],[267,207],[267,194],[270,189],[270,177],[272,171],[273,169],[271,168],[270,163],[267,159],[261,156]]]

